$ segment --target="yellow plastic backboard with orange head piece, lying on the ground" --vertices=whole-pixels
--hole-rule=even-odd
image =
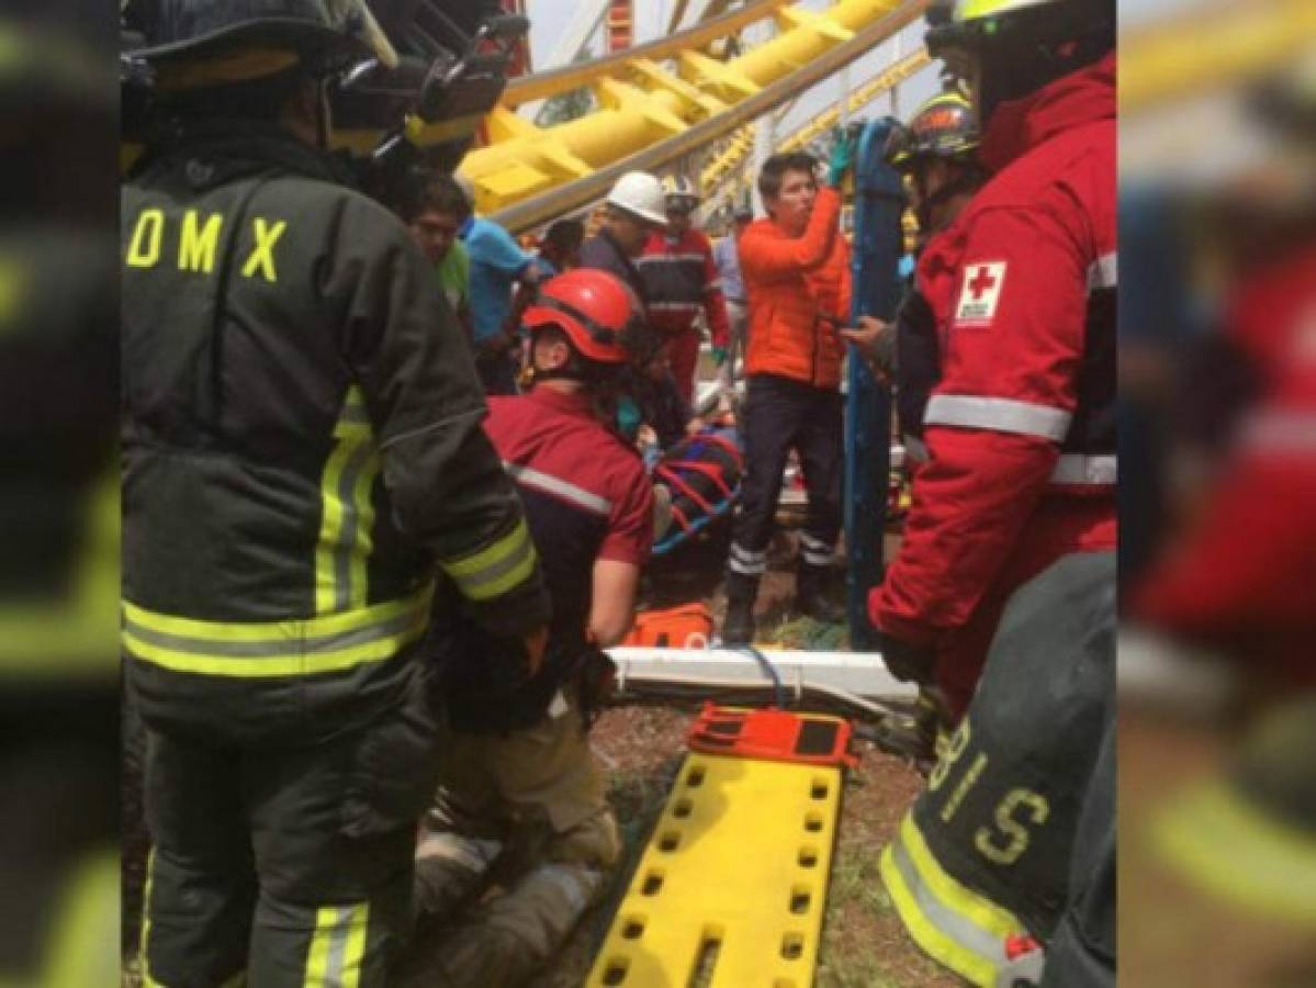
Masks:
[[[837,738],[848,725],[771,713],[772,731],[745,735],[771,758],[686,756],[588,988],[812,984],[841,803]],[[745,725],[753,717],[715,709],[701,722]],[[805,731],[813,738],[811,725],[828,738],[816,746],[811,739],[805,751],[836,756],[819,764],[783,759]]]

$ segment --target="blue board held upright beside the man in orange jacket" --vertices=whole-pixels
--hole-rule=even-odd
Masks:
[[[854,299],[850,322],[859,316],[891,321],[900,304],[900,217],[905,208],[900,174],[886,163],[891,117],[863,126],[854,166],[854,245],[850,262]],[[846,614],[850,647],[875,647],[867,618],[869,591],[882,581],[882,542],[891,472],[891,395],[850,347],[845,414]]]

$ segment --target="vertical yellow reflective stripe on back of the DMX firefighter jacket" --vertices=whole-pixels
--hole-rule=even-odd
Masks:
[[[379,475],[366,399],[355,384],[347,388],[334,424],[336,441],[320,478],[320,537],[316,542],[316,613],[330,614],[363,606],[366,560],[374,549],[375,512],[370,491]]]

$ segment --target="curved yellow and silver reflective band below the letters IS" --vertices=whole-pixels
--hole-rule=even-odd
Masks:
[[[1028,930],[1013,913],[946,872],[907,813],[882,852],[882,881],[909,935],[933,960],[979,988],[1015,967],[1007,943]]]

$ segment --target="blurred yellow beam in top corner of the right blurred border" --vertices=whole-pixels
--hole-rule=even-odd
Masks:
[[[1190,11],[1120,37],[1120,109],[1141,109],[1282,70],[1316,45],[1316,3],[1255,0]]]

